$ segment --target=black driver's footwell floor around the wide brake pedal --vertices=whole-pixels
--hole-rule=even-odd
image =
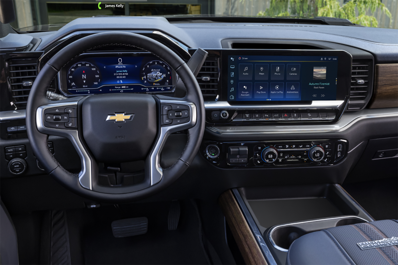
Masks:
[[[199,222],[191,201],[181,202],[177,230],[168,230],[170,203],[121,205],[92,209],[83,228],[82,247],[86,265],[190,264],[210,265],[199,238]],[[96,211],[96,212],[94,212]],[[87,212],[87,211],[85,211]],[[111,222],[146,216],[148,232],[114,238]]]

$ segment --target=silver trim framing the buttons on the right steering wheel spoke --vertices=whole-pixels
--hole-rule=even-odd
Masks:
[[[163,169],[160,166],[160,153],[162,152],[163,146],[166,143],[168,136],[172,133],[176,133],[178,131],[182,131],[185,129],[189,129],[196,124],[196,106],[192,102],[188,101],[181,101],[181,100],[167,100],[167,99],[160,99],[161,104],[181,104],[181,105],[188,105],[190,111],[190,117],[188,123],[178,124],[178,125],[171,125],[171,126],[164,126],[160,127],[160,135],[159,138],[156,140],[156,144],[152,149],[150,156],[149,156],[149,174],[150,174],[150,185],[155,185],[158,183],[163,176]]]

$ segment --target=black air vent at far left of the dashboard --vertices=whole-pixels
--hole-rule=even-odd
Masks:
[[[8,61],[11,97],[18,109],[26,109],[27,98],[37,76],[37,59]]]

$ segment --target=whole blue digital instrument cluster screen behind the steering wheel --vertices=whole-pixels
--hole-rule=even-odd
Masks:
[[[60,72],[66,95],[170,92],[176,74],[150,53],[84,54]]]

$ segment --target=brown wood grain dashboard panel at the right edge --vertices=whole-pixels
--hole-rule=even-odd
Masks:
[[[398,107],[398,64],[375,65],[375,90],[370,109]]]

